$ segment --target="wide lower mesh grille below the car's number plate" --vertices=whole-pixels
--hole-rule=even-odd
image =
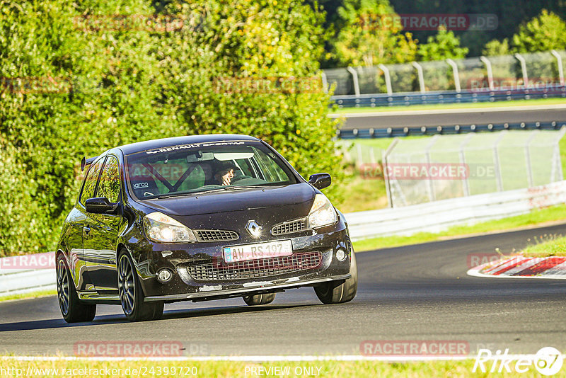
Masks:
[[[300,252],[291,256],[263,258],[261,260],[238,261],[236,263],[205,263],[190,265],[189,274],[197,281],[241,280],[245,278],[270,277],[316,268],[323,254]]]

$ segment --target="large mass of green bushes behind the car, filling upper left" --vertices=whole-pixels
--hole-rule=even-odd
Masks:
[[[0,256],[53,250],[80,159],[120,144],[251,134],[340,181],[316,2],[151,4],[0,0]]]

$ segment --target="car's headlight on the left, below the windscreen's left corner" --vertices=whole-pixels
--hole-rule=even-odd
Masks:
[[[146,236],[158,243],[188,243],[197,241],[188,227],[161,212],[152,212],[144,217]]]

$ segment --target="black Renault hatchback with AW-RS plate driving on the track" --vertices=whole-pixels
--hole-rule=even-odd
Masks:
[[[163,304],[314,287],[324,304],[352,300],[357,266],[344,216],[262,140],[175,137],[83,159],[79,197],[57,246],[57,292],[67,322],[96,304],[127,319],[159,319]]]

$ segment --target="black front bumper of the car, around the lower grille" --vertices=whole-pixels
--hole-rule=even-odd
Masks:
[[[340,227],[342,226],[342,227]],[[270,273],[255,277],[233,277],[231,279],[197,280],[190,274],[188,267],[197,264],[224,263],[222,247],[224,244],[206,244],[204,246],[180,246],[181,248],[163,251],[163,244],[153,244],[151,264],[141,263],[144,269],[139,269],[141,287],[146,301],[175,302],[179,300],[207,300],[225,297],[241,297],[242,295],[277,292],[287,288],[311,286],[320,282],[346,280],[350,277],[350,260],[353,253],[350,236],[345,224],[337,224],[332,229],[317,234],[303,234],[280,239],[290,239],[293,253],[320,253],[320,263],[309,268],[287,272]],[[270,240],[271,241],[271,240]],[[246,241],[247,242],[247,241]],[[171,245],[168,246],[171,248]],[[346,251],[345,260],[337,260],[338,249]],[[140,262],[138,261],[138,264]],[[171,270],[171,281],[161,283],[156,279],[158,270]]]

